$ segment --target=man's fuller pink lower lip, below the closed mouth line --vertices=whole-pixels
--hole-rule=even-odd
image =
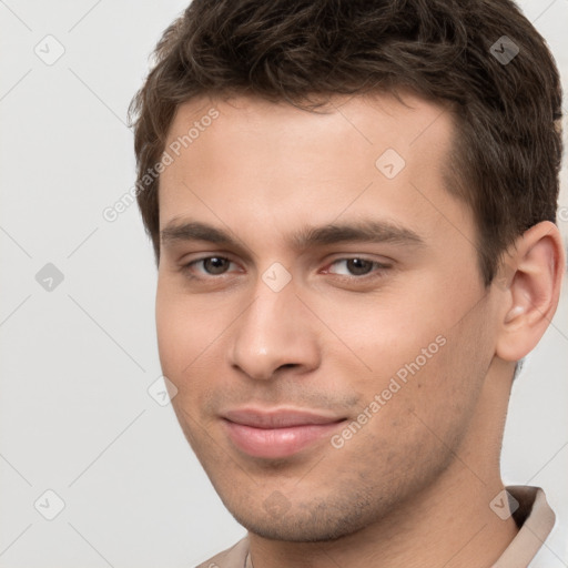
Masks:
[[[223,422],[229,437],[239,449],[250,456],[274,459],[292,456],[315,442],[328,437],[344,420],[286,428],[254,428],[226,419]]]

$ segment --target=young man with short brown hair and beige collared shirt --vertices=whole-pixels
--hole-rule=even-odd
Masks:
[[[195,0],[133,101],[160,359],[248,531],[202,566],[520,567],[517,362],[556,310],[558,73],[508,0]]]

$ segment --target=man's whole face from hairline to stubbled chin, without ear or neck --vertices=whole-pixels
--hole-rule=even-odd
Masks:
[[[282,540],[351,534],[450,470],[483,442],[494,357],[473,215],[443,179],[450,114],[332,101],[190,101],[161,174],[172,404],[229,510]]]

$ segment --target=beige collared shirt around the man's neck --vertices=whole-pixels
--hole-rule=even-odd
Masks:
[[[519,531],[491,568],[547,568],[536,557],[556,519],[545,491],[540,487],[523,485],[508,486],[507,491],[519,503],[513,513]],[[253,568],[248,555],[248,537],[196,568]]]

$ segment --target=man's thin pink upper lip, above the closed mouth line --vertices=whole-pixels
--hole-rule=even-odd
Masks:
[[[237,408],[223,413],[223,418],[252,426],[254,428],[287,428],[292,426],[306,426],[311,424],[332,424],[344,418],[328,416],[313,410],[276,408],[263,410],[258,408]]]

